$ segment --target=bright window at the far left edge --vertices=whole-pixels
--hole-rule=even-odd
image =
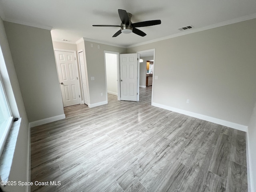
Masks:
[[[0,56],[2,56],[1,49],[0,49]],[[9,110],[8,101],[6,99],[6,94],[5,94],[4,86],[2,83],[2,78],[0,76],[0,156],[4,149],[4,144],[6,142],[11,126],[12,126],[12,114]]]

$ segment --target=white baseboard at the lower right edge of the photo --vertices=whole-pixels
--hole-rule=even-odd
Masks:
[[[253,175],[252,175],[252,170],[251,170],[251,149],[249,146],[249,136],[248,132],[246,133],[246,168],[247,168],[247,183],[248,183],[248,192],[254,192],[254,183],[253,183]]]

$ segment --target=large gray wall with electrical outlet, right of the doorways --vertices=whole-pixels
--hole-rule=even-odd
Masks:
[[[255,25],[247,20],[128,52],[156,48],[153,102],[248,126],[256,98]]]

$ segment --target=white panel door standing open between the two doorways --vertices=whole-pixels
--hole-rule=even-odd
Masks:
[[[137,101],[138,54],[120,54],[121,100]]]

